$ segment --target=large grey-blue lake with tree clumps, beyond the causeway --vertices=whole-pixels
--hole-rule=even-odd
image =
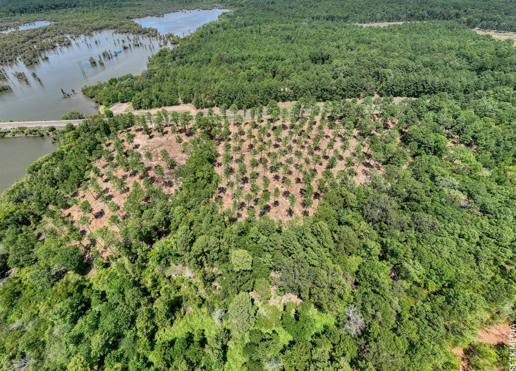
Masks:
[[[195,31],[202,24],[217,20],[224,11],[227,10],[181,11],[163,17],[137,19],[135,22],[144,27],[157,28],[160,33],[171,32],[183,36]],[[136,41],[141,46],[134,46]],[[131,48],[124,48],[123,45],[131,45]],[[95,33],[92,37],[76,38],[68,47],[46,52],[49,59],[38,64],[25,66],[20,61],[17,64],[4,65],[2,67],[6,70],[8,79],[0,80],[0,83],[7,83],[12,90],[0,93],[0,121],[55,120],[71,110],[86,115],[94,114],[98,110],[97,106],[80,92],[80,88],[128,73],[139,75],[146,68],[148,57],[162,47],[172,45],[160,46],[155,38],[106,30]],[[103,57],[104,65],[100,65],[99,55],[104,51],[110,53],[112,58]],[[90,64],[90,57],[97,61],[96,65]],[[13,72],[24,72],[28,82],[15,78]],[[33,72],[41,82],[32,76]],[[69,96],[63,96],[61,89]]]

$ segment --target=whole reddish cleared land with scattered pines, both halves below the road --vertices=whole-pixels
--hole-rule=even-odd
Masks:
[[[376,146],[400,147],[396,120],[374,107],[348,103],[346,108],[327,107],[319,113],[319,106],[307,106],[297,115],[277,109],[274,119],[253,115],[246,121],[236,112],[225,118],[201,115],[218,123],[213,130],[220,213],[241,219],[253,212],[276,220],[310,215],[332,183],[362,184],[382,171],[370,138],[377,140]],[[140,115],[135,126],[107,141],[89,181],[74,196],[74,205],[62,210],[80,227],[87,255],[112,255],[106,241],[119,238],[118,223],[126,217],[123,206],[135,187],[159,184],[170,195],[179,187],[175,169],[191,153],[199,119],[193,122],[189,116],[185,125],[181,116],[172,119],[164,113]],[[158,121],[165,124],[163,133],[155,128]],[[89,212],[80,207],[85,201]]]

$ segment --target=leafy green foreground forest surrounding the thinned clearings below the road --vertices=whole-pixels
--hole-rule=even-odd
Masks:
[[[180,182],[173,195],[113,175],[143,164],[115,133],[163,128],[132,114],[68,127],[2,196],[2,367],[458,370],[451,348],[488,314],[514,318],[515,99],[494,89],[460,105],[447,94],[385,105],[409,167],[382,160],[363,186],[341,174],[313,217],[286,223],[220,214],[221,116],[182,119],[191,155],[162,173]],[[363,120],[347,121],[364,108],[354,105],[331,103],[327,120],[372,140]],[[111,175],[92,166],[100,158]],[[104,198],[105,176],[130,190],[124,216],[88,233],[91,206],[75,197],[80,187]],[[78,220],[63,211],[79,207]],[[506,366],[507,351],[473,343],[465,354],[470,370],[487,370]]]

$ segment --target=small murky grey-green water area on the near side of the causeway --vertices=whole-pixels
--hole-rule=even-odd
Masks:
[[[23,179],[31,163],[55,150],[50,137],[0,139],[0,192]]]

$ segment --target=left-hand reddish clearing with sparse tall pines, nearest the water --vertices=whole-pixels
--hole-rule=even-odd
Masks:
[[[148,178],[151,183],[162,185],[163,189],[170,194],[178,187],[173,170],[182,165],[189,154],[183,150],[184,147],[178,144],[177,138],[180,137],[186,142],[188,137],[185,132],[175,133],[172,136],[169,130],[170,127],[165,128],[163,136],[157,132],[148,136],[143,133],[141,127],[133,127],[119,132],[117,139],[106,142],[102,158],[95,163],[98,171],[96,174],[92,172],[86,187],[77,192],[74,197],[75,205],[63,210],[64,215],[71,217],[74,223],[80,226],[80,232],[84,235],[82,244],[87,246],[90,251],[88,255],[91,255],[93,249],[96,249],[104,259],[112,254],[105,247],[106,244],[103,241],[106,234],[103,234],[104,238],[99,236],[97,240],[103,242],[98,245],[95,244],[94,239],[88,238],[88,234],[98,232],[99,229],[108,226],[107,238],[117,238],[118,224],[113,217],[125,218],[123,205],[135,187],[144,187],[144,179]],[[131,143],[127,142],[127,134],[130,137],[134,136]],[[127,157],[129,168],[117,166],[116,155],[121,154],[122,151],[115,149],[117,147],[115,143],[122,145],[123,156]],[[162,155],[163,150],[167,151],[168,161]],[[117,159],[122,162],[120,157]],[[141,166],[139,168],[131,166],[129,164],[131,161],[141,164]],[[158,166],[164,169],[163,176],[156,174]],[[88,201],[90,204],[91,212],[85,213],[79,207],[84,201]],[[116,208],[119,210],[115,210]],[[86,216],[87,219],[81,220],[83,216]]]

